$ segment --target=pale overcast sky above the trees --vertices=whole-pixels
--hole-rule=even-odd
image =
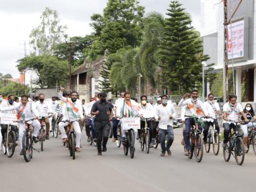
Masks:
[[[170,0],[140,0],[146,13],[152,10],[165,15]],[[190,13],[193,26],[200,30],[200,0],[180,0]],[[90,16],[102,13],[107,0],[0,0],[0,73],[10,73],[14,78],[20,74],[16,61],[24,57],[24,42],[29,54],[29,34],[40,24],[40,15],[45,9],[57,10],[62,24],[68,26],[69,36],[90,34]]]

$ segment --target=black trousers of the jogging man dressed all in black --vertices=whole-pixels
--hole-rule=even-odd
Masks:
[[[107,146],[107,140],[108,140],[108,132],[110,130],[110,123],[107,122],[99,122],[95,121],[95,127],[96,127],[96,134],[97,134],[97,148],[98,152],[101,152],[101,142],[102,146]],[[102,141],[103,140],[103,141]]]

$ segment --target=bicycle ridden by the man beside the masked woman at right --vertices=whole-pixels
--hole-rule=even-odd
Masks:
[[[236,130],[236,126],[238,123],[244,122],[236,122],[236,121],[230,121],[232,122],[229,126],[230,132],[229,132],[229,141],[227,142],[227,145],[225,148],[223,148],[223,156],[224,160],[226,162],[229,162],[231,154],[233,157],[235,157],[237,165],[242,165],[244,162],[244,142],[242,139],[242,135],[238,135],[238,131]],[[231,129],[233,129],[233,133],[231,132]],[[233,154],[234,152],[234,154]],[[241,159],[240,159],[241,157]]]

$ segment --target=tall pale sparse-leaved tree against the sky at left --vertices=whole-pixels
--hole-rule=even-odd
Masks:
[[[57,11],[48,7],[40,18],[40,25],[32,29],[29,35],[30,44],[33,46],[34,53],[52,54],[55,46],[67,37],[65,34],[67,27],[60,25]]]

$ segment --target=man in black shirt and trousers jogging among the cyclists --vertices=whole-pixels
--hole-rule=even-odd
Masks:
[[[99,101],[95,102],[91,108],[91,115],[95,115],[94,123],[97,133],[98,155],[102,155],[101,152],[107,151],[110,121],[113,119],[112,108],[113,105],[107,101],[107,93],[100,93]]]

